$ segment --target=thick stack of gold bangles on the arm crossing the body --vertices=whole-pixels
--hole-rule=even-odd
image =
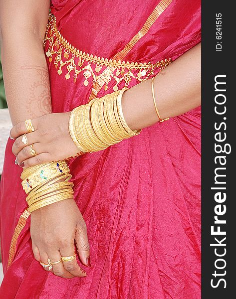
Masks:
[[[138,135],[125,122],[121,99],[127,88],[75,108],[70,115],[70,136],[81,153],[93,152]]]

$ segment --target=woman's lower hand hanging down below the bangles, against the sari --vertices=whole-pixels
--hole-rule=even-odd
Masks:
[[[31,213],[31,239],[35,259],[44,264],[73,256],[75,246],[83,265],[90,267],[90,251],[85,221],[73,198],[42,207]],[[84,277],[76,259],[52,265],[55,275],[63,278]],[[48,270],[48,268],[46,268]]]

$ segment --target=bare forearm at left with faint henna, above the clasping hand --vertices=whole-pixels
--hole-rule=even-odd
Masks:
[[[18,12],[15,12],[16,8],[12,12],[7,5],[13,6],[13,2],[0,3],[0,48],[6,100],[14,125],[27,118],[51,113],[51,99],[43,51],[48,3],[41,3],[44,13],[38,12],[36,16],[34,8],[28,8],[27,0],[18,5]],[[28,14],[25,12],[27,8]],[[10,14],[13,14],[13,20],[9,27]]]

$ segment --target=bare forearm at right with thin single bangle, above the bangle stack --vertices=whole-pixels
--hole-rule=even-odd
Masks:
[[[162,118],[184,114],[201,105],[201,44],[187,51],[154,80],[156,104]],[[158,120],[152,98],[151,80],[144,81],[122,97],[122,110],[132,130]]]

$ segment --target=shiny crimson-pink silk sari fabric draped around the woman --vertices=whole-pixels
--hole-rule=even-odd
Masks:
[[[159,2],[54,0],[51,9],[72,45],[109,59]],[[195,46],[201,41],[200,5],[200,0],[173,0],[124,60],[175,60]],[[59,76],[53,63],[48,68],[53,112],[88,102],[91,82],[85,87],[83,76],[74,83]],[[106,92],[102,88],[98,97],[113,92],[114,84]],[[86,278],[62,279],[43,270],[33,257],[30,218],[6,270],[11,237],[26,208],[21,168],[14,164],[11,146],[9,140],[0,185],[1,299],[201,298],[200,107],[70,160],[75,200],[91,247],[92,267],[81,266]]]

